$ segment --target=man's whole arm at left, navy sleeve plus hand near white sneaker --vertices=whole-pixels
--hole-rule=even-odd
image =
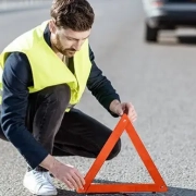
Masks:
[[[63,164],[49,155],[25,126],[30,74],[30,66],[24,54],[13,53],[8,58],[3,72],[2,130],[33,169],[41,166],[70,188],[83,188],[84,177],[77,169]],[[76,185],[70,183],[72,181]]]

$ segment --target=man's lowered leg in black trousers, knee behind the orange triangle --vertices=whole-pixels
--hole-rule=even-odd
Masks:
[[[83,113],[73,109],[64,114],[54,139],[53,156],[82,156],[96,158],[112,131]],[[107,160],[114,158],[121,150],[121,139],[118,140]]]

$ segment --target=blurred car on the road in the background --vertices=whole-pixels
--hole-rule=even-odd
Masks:
[[[161,29],[196,27],[196,0],[143,0],[145,40],[157,41]]]

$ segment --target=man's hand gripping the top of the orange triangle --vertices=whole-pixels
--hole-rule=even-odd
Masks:
[[[137,120],[137,113],[131,102],[121,103],[119,102],[119,100],[113,100],[110,103],[110,110],[118,115],[123,115],[124,113],[126,113],[132,122],[135,122]]]

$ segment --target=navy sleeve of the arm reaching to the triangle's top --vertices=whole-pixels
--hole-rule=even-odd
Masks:
[[[89,47],[89,59],[91,61],[91,71],[87,81],[87,88],[100,102],[100,105],[108,111],[112,117],[119,117],[110,111],[110,103],[117,99],[120,100],[119,94],[113,88],[111,82],[102,74],[102,71],[95,63],[95,56]]]

